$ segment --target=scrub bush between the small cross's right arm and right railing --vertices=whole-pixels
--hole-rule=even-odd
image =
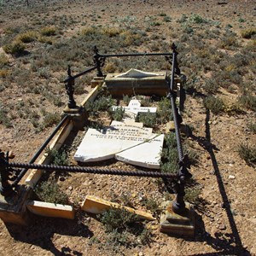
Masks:
[[[158,108],[156,112],[157,122],[160,124],[166,124],[172,120],[172,107],[171,101],[168,98],[163,98],[158,103]]]

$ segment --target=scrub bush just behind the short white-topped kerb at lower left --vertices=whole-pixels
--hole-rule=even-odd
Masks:
[[[35,193],[41,201],[62,205],[68,202],[67,195],[61,191],[59,185],[53,179],[39,183],[35,188]]]

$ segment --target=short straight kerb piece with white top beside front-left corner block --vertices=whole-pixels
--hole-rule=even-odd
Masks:
[[[73,207],[67,205],[44,201],[26,201],[26,207],[30,212],[44,217],[73,219],[75,216]]]

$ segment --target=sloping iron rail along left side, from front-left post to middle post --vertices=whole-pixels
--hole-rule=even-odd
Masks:
[[[49,144],[49,142],[51,141],[51,139],[55,136],[55,134],[60,130],[61,126],[64,124],[64,122],[68,119],[68,115],[65,115],[63,117],[63,119],[61,119],[61,122],[55,127],[55,130],[52,131],[52,133],[50,134],[50,136],[44,141],[44,143],[40,146],[40,148],[38,149],[38,151],[33,155],[32,160],[29,161],[29,164],[33,164],[35,162],[35,160],[38,159],[38,156],[44,151],[44,148],[46,148],[46,146]],[[21,180],[22,177],[24,177],[24,175],[27,172],[27,168],[24,168],[20,171],[19,175],[16,177],[15,181],[12,183],[12,186],[15,187]]]

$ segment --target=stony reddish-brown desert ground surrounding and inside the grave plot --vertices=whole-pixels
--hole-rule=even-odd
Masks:
[[[248,124],[255,125],[255,103],[254,110],[242,108],[242,111],[238,111],[232,105],[238,96],[244,94],[241,88],[244,90],[246,88],[247,94],[255,96],[255,38],[241,38],[242,30],[255,28],[255,2],[136,0],[52,3],[48,1],[45,5],[28,2],[30,5],[26,7],[26,3],[17,5],[15,1],[10,1],[9,4],[3,1],[3,6],[0,7],[0,10],[3,10],[0,14],[0,54],[8,58],[8,64],[1,62],[1,72],[4,71],[4,74],[0,73],[2,74],[0,108],[4,110],[3,113],[10,122],[10,125],[6,125],[7,120],[1,119],[0,148],[3,151],[13,150],[16,161],[28,162],[32,158],[57,123],[56,121],[52,125],[44,126],[45,117],[48,113],[60,116],[67,102],[64,85],[59,82],[66,76],[67,64],[72,65],[74,73],[84,70],[84,67],[91,67],[92,58],[88,56],[93,54],[89,50],[93,45],[90,44],[98,40],[102,51],[112,53],[160,52],[170,50],[168,47],[175,41],[178,46],[181,71],[188,75],[189,84],[193,84],[191,87],[193,90],[187,91],[183,123],[193,127],[193,134],[186,138],[186,143],[199,155],[197,163],[191,166],[190,172],[201,187],[201,195],[195,205],[196,228],[193,239],[160,233],[158,219],[148,224],[148,229],[151,230],[148,243],[137,247],[117,247],[108,242],[102,224],[95,217],[78,212],[74,220],[32,217],[32,224],[29,226],[0,222],[1,254],[256,255],[255,166],[249,166],[238,154],[241,143],[252,146],[256,144],[255,128],[254,131],[248,128]],[[198,15],[211,22],[197,23],[193,18],[194,23],[189,25],[192,18],[183,23],[177,21],[182,15],[194,18],[193,15]],[[61,25],[64,16],[66,23]],[[63,18],[62,21],[65,19]],[[25,31],[22,30],[22,26],[25,27]],[[51,44],[33,41],[26,44],[27,55],[15,56],[4,53],[3,45],[9,44],[15,38],[17,33],[14,32],[15,28],[19,27],[21,33],[38,31],[42,26],[58,28],[58,32],[50,38]],[[136,37],[128,38],[126,35],[125,39],[128,38],[131,42],[127,39],[123,46],[116,42],[118,45],[114,44],[111,38],[109,38],[110,43],[105,41],[104,44],[101,38],[94,39],[93,43],[87,38],[88,41],[84,43],[80,40],[79,43],[72,44],[72,48],[67,47],[62,52],[57,51],[63,45],[76,42],[82,29],[86,30],[88,27],[95,29],[95,26],[99,28],[116,26],[124,28],[125,31],[132,28],[142,31],[143,36],[138,44]],[[236,34],[228,36],[228,30]],[[9,31],[12,31],[14,36],[9,35]],[[209,32],[215,36],[211,38]],[[88,32],[85,33],[86,37],[90,36]],[[197,38],[193,39],[195,36]],[[225,37],[235,38],[236,42],[222,44]],[[201,47],[201,44],[204,44],[204,47]],[[248,45],[254,45],[254,48],[253,46],[248,48]],[[213,46],[218,50],[211,52],[210,55],[207,47]],[[79,52],[79,47],[88,51]],[[75,50],[78,53],[76,56],[69,55]],[[223,54],[219,59],[230,58],[241,52],[249,60],[248,63],[242,62],[245,70],[239,70],[241,82],[231,80],[230,84],[224,86],[226,81],[223,78],[221,81],[214,80],[213,83],[219,84],[219,87],[218,90],[210,93],[205,85],[207,79],[211,79],[224,67],[229,67],[225,69],[226,71],[236,69],[236,63],[229,62],[225,63],[224,67],[219,67],[221,61],[216,61],[218,57]],[[197,55],[194,55],[195,53]],[[46,57],[48,59],[45,59]],[[216,62],[207,62],[210,59]],[[143,67],[145,64],[143,61],[131,62],[131,65]],[[117,63],[120,64],[114,61],[107,62],[105,73],[123,71],[129,67],[116,67],[112,70]],[[55,67],[55,65],[59,66]],[[154,68],[166,69],[164,65],[155,64],[154,61],[144,66],[150,71],[154,71]],[[6,70],[8,72],[5,74]],[[235,78],[235,75],[231,76]],[[82,80],[82,85],[79,85],[81,91],[76,95],[77,102],[81,102],[90,91],[89,81],[90,79]],[[228,106],[224,111],[212,113],[204,107],[204,98],[212,93],[224,100],[225,106]],[[79,131],[77,141],[83,135],[84,133]],[[71,148],[71,155],[75,152],[75,146],[77,146],[76,140]],[[125,166],[118,161],[109,161],[106,165],[120,169]],[[134,167],[125,166],[125,168]],[[143,197],[153,198],[158,202],[166,200],[166,195],[160,191],[162,184],[153,178],[72,173],[59,181],[59,185],[75,206],[81,203],[86,195],[96,195],[107,200],[131,195],[135,207],[141,206]],[[145,210],[143,207],[142,209]]]

